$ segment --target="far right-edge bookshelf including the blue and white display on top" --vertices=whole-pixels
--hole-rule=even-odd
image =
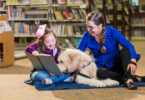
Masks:
[[[139,0],[132,3],[131,15],[132,39],[145,40],[145,2]]]

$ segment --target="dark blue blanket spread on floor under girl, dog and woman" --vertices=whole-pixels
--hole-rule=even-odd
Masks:
[[[135,82],[136,86],[145,86],[145,82]],[[35,82],[34,86],[37,90],[66,90],[66,89],[92,89],[92,88],[100,88],[95,86],[88,86],[83,84],[77,84],[72,82],[61,82],[52,85],[43,84],[41,82]],[[125,84],[120,84],[117,86],[107,86],[103,88],[120,88],[124,87]]]

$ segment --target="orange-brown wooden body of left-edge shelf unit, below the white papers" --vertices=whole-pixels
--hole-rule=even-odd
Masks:
[[[14,34],[12,31],[0,33],[0,45],[2,59],[0,67],[6,67],[14,64]]]

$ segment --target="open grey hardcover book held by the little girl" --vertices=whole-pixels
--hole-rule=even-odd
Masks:
[[[33,56],[31,53],[25,52],[34,68],[37,70],[45,70],[48,73],[53,73],[54,75],[62,75],[63,73],[59,70],[55,60],[51,55],[39,54]]]

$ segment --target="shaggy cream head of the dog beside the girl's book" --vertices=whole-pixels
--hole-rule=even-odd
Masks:
[[[63,73],[72,73],[88,61],[91,61],[91,57],[84,52],[77,49],[66,49],[58,57],[58,67]]]

